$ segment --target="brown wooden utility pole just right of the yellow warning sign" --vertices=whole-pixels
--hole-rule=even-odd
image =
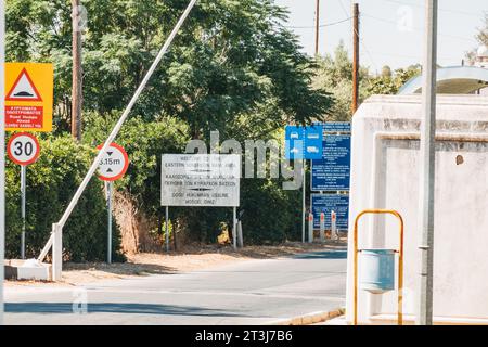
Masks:
[[[72,136],[81,141],[81,107],[82,107],[82,69],[81,69],[81,30],[80,0],[72,0],[73,23],[73,89],[72,89]]]

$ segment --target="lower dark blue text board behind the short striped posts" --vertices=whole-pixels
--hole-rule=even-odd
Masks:
[[[320,214],[325,214],[325,229],[331,230],[331,213],[337,214],[338,230],[348,230],[349,195],[311,194],[310,206],[313,214],[313,228],[320,228]]]

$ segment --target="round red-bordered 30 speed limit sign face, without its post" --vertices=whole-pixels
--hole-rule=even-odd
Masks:
[[[27,132],[21,132],[10,138],[7,151],[12,162],[22,166],[27,166],[37,160],[40,146],[35,136]]]

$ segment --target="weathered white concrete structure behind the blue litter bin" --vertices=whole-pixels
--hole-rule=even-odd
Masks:
[[[354,312],[354,221],[370,208],[395,209],[404,218],[403,312],[406,323],[414,322],[420,279],[421,114],[421,95],[376,95],[367,100],[354,117],[349,323]],[[434,320],[488,324],[488,98],[439,95],[437,119]],[[362,220],[359,248],[371,247],[398,249],[395,218]],[[396,312],[396,291],[373,295],[359,290],[359,323],[395,324]]]

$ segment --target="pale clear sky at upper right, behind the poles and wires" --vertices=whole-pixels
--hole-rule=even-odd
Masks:
[[[321,0],[321,25],[351,16],[352,2],[361,12],[361,65],[371,72],[421,63],[424,46],[424,0]],[[314,51],[316,0],[275,0],[288,8],[286,26],[299,36],[304,51]],[[460,65],[467,51],[477,48],[475,35],[483,27],[488,0],[439,0],[438,63]],[[320,53],[332,53],[341,40],[351,52],[352,23],[346,21],[320,29]]]

